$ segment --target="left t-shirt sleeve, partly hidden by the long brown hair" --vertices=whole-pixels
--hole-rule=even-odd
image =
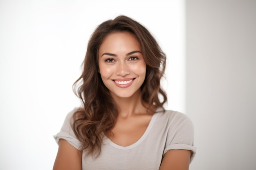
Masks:
[[[81,142],[76,138],[76,135],[74,134],[74,131],[72,129],[72,120],[73,115],[77,108],[72,110],[70,113],[67,114],[65,121],[63,123],[63,126],[61,128],[61,131],[58,132],[56,135],[54,135],[54,139],[58,144],[58,141],[60,139],[65,139],[68,143],[70,143],[72,146],[74,146],[76,149],[79,149],[81,146]]]

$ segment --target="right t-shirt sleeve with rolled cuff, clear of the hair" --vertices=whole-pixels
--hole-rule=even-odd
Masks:
[[[170,119],[164,154],[168,150],[191,150],[190,162],[195,157],[194,129],[192,121],[182,113]]]

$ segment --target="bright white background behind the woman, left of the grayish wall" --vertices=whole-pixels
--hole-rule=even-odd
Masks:
[[[168,57],[168,106],[185,112],[184,1],[0,1],[0,169],[52,169],[56,134],[79,106],[72,84],[88,39],[124,14],[146,26]]]

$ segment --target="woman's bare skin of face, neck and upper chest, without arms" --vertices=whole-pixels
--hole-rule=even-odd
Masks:
[[[119,116],[109,138],[120,146],[139,140],[152,117],[141,101],[140,87],[145,80],[146,63],[140,51],[139,42],[130,33],[112,33],[99,48],[99,73],[119,106]],[[132,82],[120,86],[115,80]]]

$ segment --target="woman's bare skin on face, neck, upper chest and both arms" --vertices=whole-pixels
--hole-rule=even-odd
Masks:
[[[146,76],[146,63],[140,51],[139,42],[130,33],[112,33],[99,48],[98,72],[119,109],[112,135],[108,137],[119,146],[129,146],[139,140],[154,113],[141,101],[140,87]],[[122,80],[125,81],[120,85]],[[188,170],[190,155],[190,150],[169,150],[159,170]],[[82,152],[61,139],[53,169],[81,170],[81,162]]]

